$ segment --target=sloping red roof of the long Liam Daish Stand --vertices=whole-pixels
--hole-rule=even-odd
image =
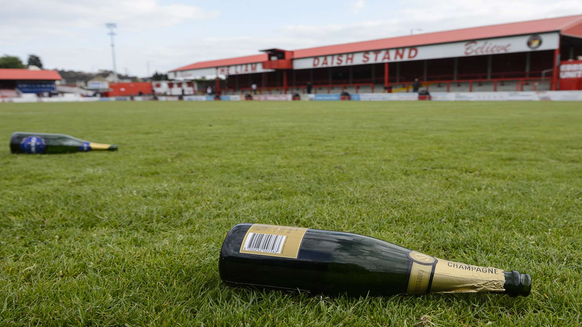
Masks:
[[[582,15],[528,20],[526,22],[470,27],[468,29],[406,35],[401,37],[381,38],[379,40],[352,42],[345,44],[327,45],[324,47],[299,49],[293,51],[293,59],[333,54],[344,54],[346,52],[414,47],[418,45],[449,43],[482,38],[505,37],[510,35],[523,35],[552,31],[560,31],[560,33],[562,33],[563,35],[582,38]],[[175,72],[178,70],[243,65],[245,63],[267,61],[268,60],[267,56],[268,56],[267,54],[261,54],[228,59],[219,59],[214,61],[203,61],[183,66],[177,69],[173,69],[171,71]]]

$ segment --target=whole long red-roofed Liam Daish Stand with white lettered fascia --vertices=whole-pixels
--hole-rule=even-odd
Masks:
[[[582,90],[582,15],[261,52],[171,70],[169,87],[212,77],[225,95],[253,83],[261,94],[306,93],[307,83],[314,93],[396,93],[418,78],[431,91]]]

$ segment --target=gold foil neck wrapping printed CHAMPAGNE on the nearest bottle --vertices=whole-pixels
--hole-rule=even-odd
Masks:
[[[503,269],[443,260],[411,251],[407,294],[503,292]]]

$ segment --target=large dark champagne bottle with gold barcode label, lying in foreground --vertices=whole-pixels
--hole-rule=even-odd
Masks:
[[[233,286],[350,296],[496,292],[530,294],[530,275],[466,265],[359,234],[240,223],[218,264]]]

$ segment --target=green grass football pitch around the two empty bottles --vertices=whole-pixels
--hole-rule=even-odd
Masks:
[[[0,325],[582,324],[582,105],[1,104]],[[12,155],[12,131],[118,152]],[[529,297],[233,289],[240,222],[530,273]]]

